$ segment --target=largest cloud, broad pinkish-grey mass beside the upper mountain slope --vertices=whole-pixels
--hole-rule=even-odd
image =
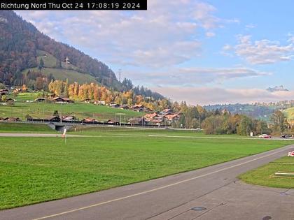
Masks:
[[[106,63],[162,67],[181,64],[202,54],[204,30],[237,20],[216,17],[216,8],[194,0],[148,0],[147,11],[18,11],[43,33],[58,41],[87,48]]]

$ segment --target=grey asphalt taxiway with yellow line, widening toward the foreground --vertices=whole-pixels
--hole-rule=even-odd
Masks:
[[[291,145],[188,173],[5,210],[0,219],[294,219],[293,189],[236,179],[293,149]]]

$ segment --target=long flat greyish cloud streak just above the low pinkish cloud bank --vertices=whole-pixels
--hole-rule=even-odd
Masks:
[[[250,78],[270,73],[250,68],[172,68],[167,71],[128,72],[128,78],[138,84],[159,85],[160,87],[193,87],[213,82],[223,82],[236,78]]]

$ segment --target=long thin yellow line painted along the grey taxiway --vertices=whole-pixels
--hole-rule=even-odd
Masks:
[[[285,148],[287,149],[287,148],[290,148],[290,147],[293,147],[293,146],[290,145],[290,146],[287,146],[287,147],[285,147]],[[96,203],[96,204],[93,204],[93,205],[88,205],[88,206],[85,206],[85,207],[80,207],[80,208],[78,208],[78,209],[69,210],[69,211],[66,211],[66,212],[60,212],[60,213],[57,213],[57,214],[51,214],[51,215],[48,215],[48,216],[45,216],[45,217],[40,217],[40,218],[33,219],[33,220],[41,220],[41,219],[48,219],[48,218],[52,218],[52,217],[57,217],[57,216],[59,216],[59,215],[69,214],[69,213],[71,213],[71,212],[78,212],[78,211],[81,211],[81,210],[87,210],[87,209],[89,209],[89,208],[91,208],[91,207],[97,207],[97,206],[100,206],[100,205],[105,205],[105,204],[108,204],[108,203],[113,203],[113,202],[116,202],[116,201],[119,201],[119,200],[125,200],[126,198],[132,198],[132,197],[135,197],[135,196],[141,196],[141,195],[144,195],[144,194],[147,194],[147,193],[151,193],[151,192],[154,192],[154,191],[158,191],[158,190],[160,190],[160,189],[166,189],[166,188],[171,187],[171,186],[176,186],[176,185],[179,185],[179,184],[182,184],[182,183],[185,183],[185,182],[190,182],[191,180],[199,179],[199,178],[201,178],[201,177],[207,177],[208,175],[212,175],[212,174],[215,174],[215,173],[219,173],[219,172],[221,172],[221,171],[223,171],[223,170],[229,170],[229,169],[231,169],[231,168],[235,168],[235,167],[237,167],[237,166],[244,165],[244,164],[246,164],[246,163],[251,163],[251,162],[253,162],[253,161],[257,161],[257,160],[259,160],[259,159],[263,159],[263,158],[265,158],[265,157],[267,157],[267,156],[272,156],[272,155],[274,155],[274,154],[278,154],[278,153],[280,153],[280,152],[285,151],[285,150],[286,150],[285,148],[282,149],[282,150],[280,150],[280,151],[273,152],[272,154],[267,154],[267,155],[265,155],[265,156],[260,156],[260,157],[258,157],[258,158],[252,159],[252,160],[250,160],[250,161],[246,161],[246,162],[243,162],[243,163],[239,163],[239,164],[236,164],[236,165],[234,165],[234,166],[230,166],[230,167],[228,167],[228,168],[223,168],[223,169],[220,169],[220,170],[216,170],[216,171],[214,171],[214,172],[207,173],[207,174],[204,174],[204,175],[200,175],[200,176],[197,176],[197,177],[192,177],[192,178],[190,178],[190,179],[185,179],[185,180],[182,180],[182,181],[179,181],[179,182],[175,182],[175,183],[173,183],[173,184],[168,184],[168,185],[165,185],[165,186],[160,186],[160,187],[158,187],[158,188],[151,189],[151,190],[148,190],[148,191],[143,191],[143,192],[141,192],[141,193],[135,193],[135,194],[132,194],[132,195],[130,195],[130,196],[125,196],[125,197],[115,198],[115,199],[113,199],[113,200],[108,200],[108,201],[105,201],[105,202],[102,202],[102,203]],[[264,152],[264,153],[266,153],[266,152]],[[261,153],[261,154],[264,154],[264,153]]]

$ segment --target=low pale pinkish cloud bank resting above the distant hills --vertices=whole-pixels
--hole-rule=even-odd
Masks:
[[[270,93],[263,89],[222,89],[209,87],[153,87],[174,101],[186,100],[191,105],[209,105],[225,103],[255,103],[291,100],[294,91]]]

